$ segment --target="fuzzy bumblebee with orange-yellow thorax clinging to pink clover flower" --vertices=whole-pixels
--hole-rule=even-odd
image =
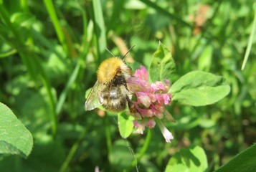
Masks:
[[[135,114],[137,110],[131,102],[133,92],[128,90],[126,84],[128,77],[132,76],[131,67],[125,63],[125,56],[120,59],[110,54],[113,57],[105,59],[98,68],[97,81],[87,96],[85,110],[93,110],[102,105],[107,110],[120,112],[128,105],[130,112]]]

